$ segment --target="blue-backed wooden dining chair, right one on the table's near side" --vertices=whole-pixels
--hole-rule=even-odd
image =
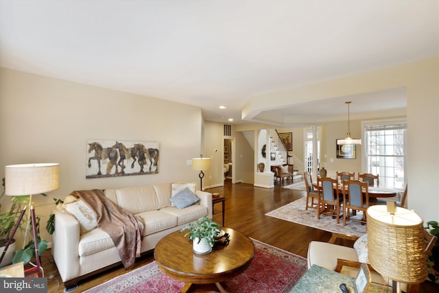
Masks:
[[[346,220],[354,220],[366,224],[366,210],[369,207],[368,183],[359,180],[343,182],[343,226]],[[351,211],[363,211],[361,219],[351,218]]]

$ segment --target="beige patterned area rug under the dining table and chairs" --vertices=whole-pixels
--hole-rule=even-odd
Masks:
[[[366,225],[356,221],[346,221],[346,226],[343,226],[343,218],[340,218],[340,224],[337,224],[335,219],[329,215],[320,215],[320,220],[317,218],[316,209],[305,210],[306,198],[300,198],[294,202],[290,202],[283,207],[266,213],[273,218],[302,224],[305,226],[318,228],[331,233],[340,233],[344,235],[356,235],[361,236],[366,234]],[[361,218],[362,212],[358,212],[355,218]]]

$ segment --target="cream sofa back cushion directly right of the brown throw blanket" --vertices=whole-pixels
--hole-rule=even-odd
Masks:
[[[130,213],[158,210],[159,204],[153,186],[116,189],[117,204]]]

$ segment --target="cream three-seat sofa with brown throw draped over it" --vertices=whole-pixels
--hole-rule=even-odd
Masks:
[[[196,191],[200,202],[184,209],[171,206],[171,183],[145,187],[106,189],[106,198],[145,222],[141,253],[156,246],[165,235],[180,230],[202,216],[212,217],[212,194]],[[78,281],[121,263],[110,235],[100,228],[81,234],[80,224],[72,215],[54,211],[55,232],[52,254],[67,290]]]

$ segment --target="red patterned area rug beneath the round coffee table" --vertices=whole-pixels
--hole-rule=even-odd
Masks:
[[[256,253],[248,269],[222,282],[228,292],[289,292],[307,270],[307,259],[252,239]],[[180,292],[185,283],[167,277],[157,263],[132,270],[86,293]]]

